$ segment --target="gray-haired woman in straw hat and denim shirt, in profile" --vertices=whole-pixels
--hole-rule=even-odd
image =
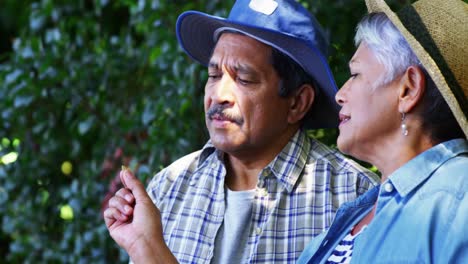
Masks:
[[[468,7],[367,0],[338,147],[381,185],[343,205],[299,263],[468,263]]]

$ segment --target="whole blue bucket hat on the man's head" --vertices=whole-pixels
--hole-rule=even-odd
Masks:
[[[328,41],[317,20],[294,0],[238,0],[228,18],[187,11],[177,19],[177,39],[194,60],[207,66],[219,36],[237,31],[276,48],[318,83],[318,95],[304,127],[338,125],[337,87],[327,63]]]

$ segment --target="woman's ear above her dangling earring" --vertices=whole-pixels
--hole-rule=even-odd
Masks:
[[[426,91],[426,77],[418,66],[410,66],[401,78],[398,99],[400,113],[409,113],[418,105]]]

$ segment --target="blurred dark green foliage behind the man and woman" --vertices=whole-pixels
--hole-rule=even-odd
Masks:
[[[328,32],[340,86],[364,1],[301,2]],[[120,165],[146,182],[207,140],[207,74],[179,48],[177,16],[233,3],[0,0],[2,260],[128,261],[101,215]],[[310,135],[334,147],[337,130]]]

